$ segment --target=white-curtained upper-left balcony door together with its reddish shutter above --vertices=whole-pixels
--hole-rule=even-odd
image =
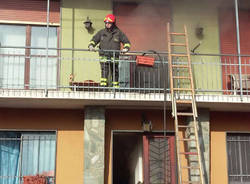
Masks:
[[[0,6],[0,88],[41,89],[56,87],[57,61],[55,50],[46,47],[47,3],[44,0],[8,0]],[[60,23],[60,0],[49,1],[49,22]],[[5,24],[6,23],[6,24]],[[10,23],[10,24],[7,24]],[[17,24],[14,24],[17,23]],[[35,26],[36,25],[36,26]],[[57,48],[58,27],[49,28],[49,47]],[[19,47],[19,48],[17,48]],[[20,48],[22,47],[22,48]]]

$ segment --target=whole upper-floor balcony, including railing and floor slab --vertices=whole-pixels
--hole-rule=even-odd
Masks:
[[[149,106],[150,102],[150,107],[157,108],[164,99],[170,105],[167,53],[146,53],[155,58],[152,67],[136,63],[136,55],[143,52],[111,57],[106,62],[108,85],[103,87],[98,52],[31,47],[0,50],[1,107],[18,107],[18,104],[42,108],[134,107]],[[113,52],[111,55],[115,55]],[[210,107],[220,103],[221,108],[228,108],[228,103],[239,107],[250,103],[250,56],[192,54],[191,60],[198,105]],[[173,62],[186,61],[176,57]],[[111,85],[117,75],[111,72],[116,63],[119,63],[119,88]],[[178,70],[175,74],[183,76],[185,72]],[[176,85],[185,86],[185,80]],[[179,98],[190,95],[179,94]]]

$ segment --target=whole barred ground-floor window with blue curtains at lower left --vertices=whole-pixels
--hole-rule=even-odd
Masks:
[[[43,175],[55,182],[55,132],[0,131],[0,183],[19,184]]]

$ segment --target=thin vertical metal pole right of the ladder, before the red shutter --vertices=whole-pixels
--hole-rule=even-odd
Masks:
[[[239,31],[239,12],[238,0],[235,0],[235,19],[236,19],[236,33],[237,33],[237,49],[239,58],[239,76],[240,76],[240,97],[242,100],[242,71],[241,71],[241,52],[240,52],[240,31]]]

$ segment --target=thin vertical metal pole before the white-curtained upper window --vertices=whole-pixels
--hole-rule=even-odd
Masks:
[[[48,94],[48,62],[49,62],[49,4],[50,0],[47,0],[47,36],[46,36],[46,73],[45,73],[45,94]]]

